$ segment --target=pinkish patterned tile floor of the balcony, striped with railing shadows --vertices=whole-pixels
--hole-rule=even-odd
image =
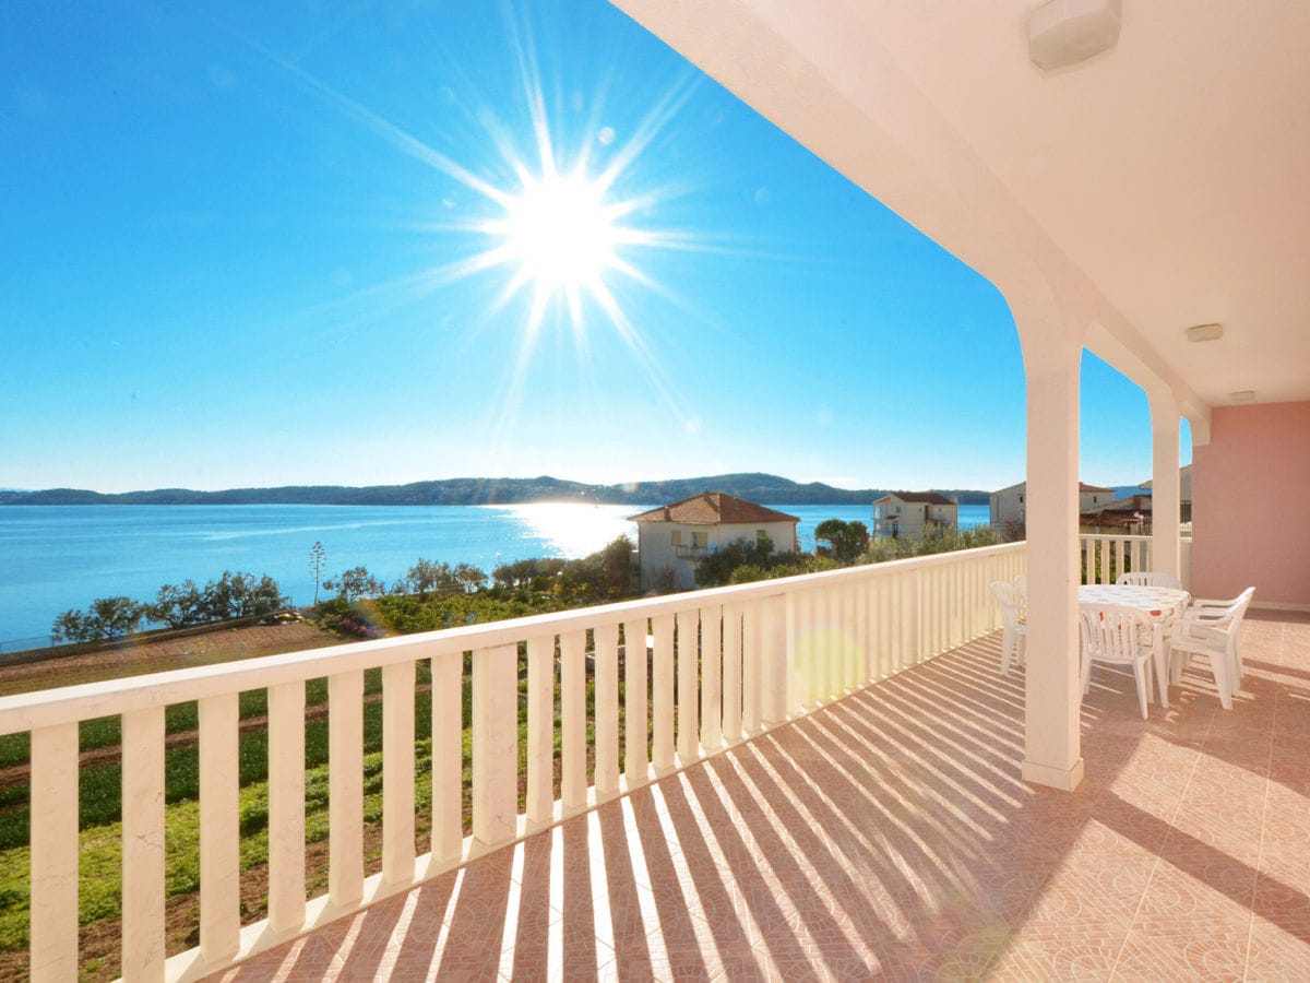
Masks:
[[[1231,712],[1098,667],[1073,794],[993,636],[224,979],[1310,979],[1310,616],[1242,645]]]

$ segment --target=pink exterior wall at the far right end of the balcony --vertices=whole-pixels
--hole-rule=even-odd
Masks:
[[[1310,608],[1310,402],[1224,406],[1192,452],[1192,592]]]

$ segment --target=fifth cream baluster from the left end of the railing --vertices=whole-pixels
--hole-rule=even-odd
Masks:
[[[328,676],[328,899],[364,894],[364,674]],[[202,882],[204,874],[200,874]]]

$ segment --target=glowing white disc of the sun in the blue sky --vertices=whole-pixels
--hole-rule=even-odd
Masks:
[[[617,263],[614,219],[616,208],[605,206],[599,182],[580,172],[546,173],[527,178],[487,231],[504,237],[516,279],[549,298],[596,290]]]

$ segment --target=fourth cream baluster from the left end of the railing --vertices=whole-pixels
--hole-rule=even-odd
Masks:
[[[305,923],[305,684],[269,687],[269,928]],[[123,979],[132,979],[123,970]]]

